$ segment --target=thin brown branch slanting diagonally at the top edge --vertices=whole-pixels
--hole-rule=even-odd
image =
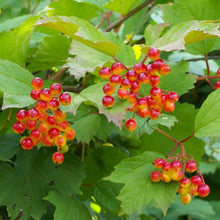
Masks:
[[[148,6],[148,11],[151,10],[151,8],[153,7],[155,3],[155,0],[148,0],[145,1],[144,3],[138,5],[136,8],[134,8],[133,10],[131,10],[130,12],[128,12],[126,15],[122,16],[121,18],[119,18],[117,21],[115,21],[113,24],[109,25],[104,31],[111,31],[112,29],[118,27],[120,24],[122,24],[125,20],[127,20],[128,18],[130,18],[131,16],[133,16],[134,14],[136,14],[137,12],[139,12],[141,9],[143,9],[144,7]]]

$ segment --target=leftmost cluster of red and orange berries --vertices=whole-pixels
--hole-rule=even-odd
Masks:
[[[47,147],[55,145],[57,152],[53,154],[52,160],[61,164],[64,160],[63,153],[68,151],[66,141],[75,138],[75,131],[65,120],[66,113],[59,107],[60,104],[69,105],[71,96],[67,92],[61,93],[62,87],[59,83],[43,89],[43,81],[39,77],[35,77],[31,85],[33,90],[30,96],[36,100],[36,105],[16,113],[17,121],[13,124],[13,130],[17,134],[27,131],[27,135],[20,139],[24,150],[30,150],[40,143]]]

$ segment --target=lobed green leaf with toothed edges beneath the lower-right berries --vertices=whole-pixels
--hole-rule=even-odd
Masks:
[[[162,157],[155,152],[144,152],[135,157],[127,158],[115,167],[107,178],[116,183],[125,184],[118,198],[121,200],[122,213],[141,212],[146,205],[154,202],[154,206],[167,212],[176,196],[177,183],[153,183],[150,180],[154,170],[152,161]]]

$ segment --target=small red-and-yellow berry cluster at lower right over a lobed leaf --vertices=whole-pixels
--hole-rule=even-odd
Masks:
[[[179,187],[177,192],[181,195],[180,201],[183,204],[187,204],[191,201],[192,196],[199,195],[205,197],[209,194],[210,188],[205,184],[201,173],[197,170],[197,164],[193,159],[187,161],[186,165],[181,163],[178,159],[174,159],[172,162],[157,158],[153,162],[154,167],[162,169],[162,172],[155,170],[151,173],[151,181],[165,183],[171,181],[179,181]],[[185,170],[188,173],[197,174],[191,178],[185,177]]]

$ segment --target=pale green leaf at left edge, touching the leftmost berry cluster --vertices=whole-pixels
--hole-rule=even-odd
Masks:
[[[22,108],[34,103],[30,97],[33,76],[16,63],[0,60],[0,90],[4,92],[2,109]]]

